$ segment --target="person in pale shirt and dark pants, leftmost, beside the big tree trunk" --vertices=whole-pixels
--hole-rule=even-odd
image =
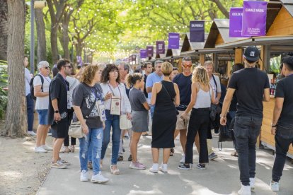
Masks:
[[[33,131],[33,98],[30,94],[30,80],[32,76],[30,75],[30,71],[26,68],[28,66],[28,57],[24,57],[23,64],[25,66],[25,97],[26,97],[26,113],[28,115],[28,134],[30,136],[36,136]]]

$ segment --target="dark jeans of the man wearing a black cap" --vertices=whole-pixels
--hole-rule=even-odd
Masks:
[[[240,181],[249,186],[249,178],[255,177],[255,144],[263,122],[261,117],[235,117],[234,136],[238,152]]]

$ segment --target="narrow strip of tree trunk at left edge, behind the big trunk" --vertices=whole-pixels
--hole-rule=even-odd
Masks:
[[[0,0],[0,60],[7,60],[7,0]]]

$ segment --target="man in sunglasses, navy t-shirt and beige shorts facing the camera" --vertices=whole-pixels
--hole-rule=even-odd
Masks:
[[[193,63],[190,57],[183,57],[182,60],[182,73],[178,74],[174,79],[173,83],[176,83],[180,92],[180,105],[177,107],[179,114],[177,115],[176,131],[180,134],[180,143],[183,149],[183,156],[180,162],[185,162],[185,145],[187,141],[187,126],[188,120],[181,119],[180,116],[188,107],[191,96],[191,76],[193,75],[191,67]],[[177,136],[177,135],[176,135]]]

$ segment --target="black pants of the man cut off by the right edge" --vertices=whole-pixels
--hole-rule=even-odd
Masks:
[[[275,182],[281,179],[290,144],[293,144],[293,125],[278,124],[275,135],[276,156],[274,167],[272,167],[272,180]]]

